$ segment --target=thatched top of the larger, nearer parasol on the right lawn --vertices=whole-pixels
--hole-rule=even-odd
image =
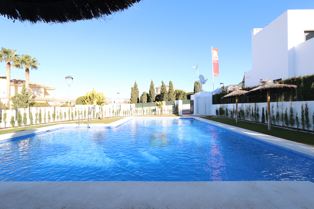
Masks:
[[[251,91],[245,93],[245,96],[255,96],[255,95],[265,95],[267,90],[269,90],[270,94],[282,93],[285,91],[290,91],[295,89],[296,85],[290,84],[279,84],[279,83],[269,83],[269,80],[263,81],[260,80],[262,86],[258,86]]]

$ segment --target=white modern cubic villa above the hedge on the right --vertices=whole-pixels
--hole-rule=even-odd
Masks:
[[[287,10],[264,28],[252,30],[252,70],[245,85],[314,73],[314,9]]]

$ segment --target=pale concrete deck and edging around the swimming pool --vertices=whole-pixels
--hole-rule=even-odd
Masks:
[[[133,117],[132,117],[133,118]],[[93,124],[116,127],[132,119]],[[142,117],[141,117],[142,118]],[[158,117],[151,117],[158,118]],[[163,117],[164,118],[164,117]],[[177,117],[179,118],[179,117]],[[197,120],[314,156],[314,148],[266,134]],[[173,119],[173,117],[169,117]],[[55,128],[62,124],[0,135],[1,140]],[[86,125],[85,125],[86,128]],[[6,135],[6,136],[4,136]],[[312,155],[313,154],[313,155]],[[314,208],[314,183],[310,181],[2,181],[0,208]]]

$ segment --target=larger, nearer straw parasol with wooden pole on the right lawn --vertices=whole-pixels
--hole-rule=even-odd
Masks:
[[[296,85],[269,83],[269,79],[266,81],[260,80],[262,86],[258,86],[251,91],[245,93],[245,96],[256,96],[267,94],[267,115],[268,115],[268,130],[270,130],[270,94],[281,93],[285,91],[291,91],[296,89]]]

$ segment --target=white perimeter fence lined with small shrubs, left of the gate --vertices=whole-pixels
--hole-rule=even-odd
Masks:
[[[145,103],[143,103],[145,104]],[[167,104],[167,103],[166,103]],[[135,107],[136,104],[108,104],[104,105],[104,118],[159,115],[160,107]],[[181,106],[180,106],[181,105]],[[137,106],[140,106],[137,104]],[[52,122],[78,121],[82,113],[83,119],[88,119],[89,107],[93,107],[89,118],[101,118],[101,108],[98,105],[75,105],[75,107],[28,107],[11,110],[1,110],[0,128],[24,125],[39,125]],[[178,108],[176,108],[178,107]],[[172,105],[163,107],[163,114],[177,113],[182,110],[182,102],[174,101]],[[21,114],[18,117],[19,113]],[[12,118],[13,116],[13,118]],[[80,116],[80,118],[82,117]],[[20,123],[20,124],[19,124]]]

